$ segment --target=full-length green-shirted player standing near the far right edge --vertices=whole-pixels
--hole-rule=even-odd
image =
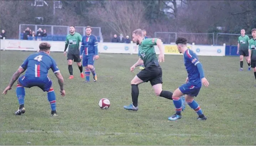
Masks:
[[[243,64],[244,64],[244,56],[246,59],[246,62],[248,61],[249,56],[249,50],[248,50],[248,42],[250,38],[249,36],[245,35],[245,30],[241,30],[241,36],[238,37],[238,43],[237,43],[237,54],[240,55],[240,71],[243,71]],[[248,70],[251,70],[250,63],[248,63]]]

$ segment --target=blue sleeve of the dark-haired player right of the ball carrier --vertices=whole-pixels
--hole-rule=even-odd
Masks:
[[[204,78],[204,69],[202,64],[199,62],[198,58],[196,57],[196,54],[190,50],[186,51],[185,56],[187,59],[189,59],[189,61],[191,61],[191,63],[193,63],[200,74],[200,79]]]

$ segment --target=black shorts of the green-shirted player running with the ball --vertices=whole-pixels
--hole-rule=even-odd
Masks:
[[[156,65],[155,63],[150,63],[142,69],[138,74],[137,77],[143,80],[143,82],[150,81],[150,84],[156,85],[156,84],[162,84],[162,68],[159,65]]]

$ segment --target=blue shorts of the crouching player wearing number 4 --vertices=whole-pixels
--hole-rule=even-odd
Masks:
[[[26,88],[31,87],[39,87],[43,90],[43,92],[48,92],[50,88],[52,87],[52,81],[50,78],[37,78],[37,77],[26,77],[25,75],[22,75],[19,78],[19,85]]]

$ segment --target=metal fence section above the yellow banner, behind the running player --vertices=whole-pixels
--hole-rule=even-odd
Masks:
[[[186,37],[189,43],[214,45],[214,33],[155,32],[154,37],[160,38],[165,44],[174,43],[177,37]]]

